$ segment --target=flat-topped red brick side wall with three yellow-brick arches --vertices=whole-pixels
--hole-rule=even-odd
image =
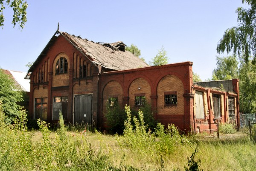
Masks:
[[[166,126],[168,123],[174,123],[183,131],[190,130],[191,118],[193,118],[193,100],[190,97],[192,90],[191,62],[106,72],[99,76],[100,92],[103,92],[105,85],[110,80],[115,80],[122,86],[123,105],[134,106],[134,94],[145,93],[152,109],[155,109],[154,116],[157,120]],[[139,87],[140,90],[138,90]],[[163,92],[172,90],[177,91],[179,105],[175,108],[164,109]],[[99,100],[102,100],[102,96],[103,94],[100,93]],[[103,111],[100,106],[99,111]],[[159,112],[161,114],[157,114]],[[99,117],[102,118],[102,114],[99,114]],[[100,125],[102,125],[101,122]]]

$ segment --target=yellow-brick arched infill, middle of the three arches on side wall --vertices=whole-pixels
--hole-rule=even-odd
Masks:
[[[148,79],[149,80],[149,79]],[[128,97],[129,97],[129,105],[131,108],[135,108],[135,95],[141,94],[138,96],[142,96],[145,94],[146,101],[151,104],[151,82],[148,82],[144,77],[137,77],[132,80],[128,88]],[[140,90],[138,89],[140,87]]]

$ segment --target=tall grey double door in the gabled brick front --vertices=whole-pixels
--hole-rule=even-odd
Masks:
[[[92,123],[93,95],[75,95],[74,123]]]

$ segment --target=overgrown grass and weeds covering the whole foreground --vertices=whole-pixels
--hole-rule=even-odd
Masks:
[[[0,170],[256,170],[256,144],[249,137],[197,140],[161,124],[153,134],[146,131],[143,112],[131,118],[127,106],[126,113],[124,134],[112,136],[68,131],[61,116],[57,131],[41,120],[39,131],[27,131],[25,114],[6,125],[0,110]]]

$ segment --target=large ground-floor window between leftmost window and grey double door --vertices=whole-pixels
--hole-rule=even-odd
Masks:
[[[67,105],[68,98],[66,97],[54,97],[52,108],[52,120],[59,120],[59,112],[61,111],[63,119],[67,120]]]

